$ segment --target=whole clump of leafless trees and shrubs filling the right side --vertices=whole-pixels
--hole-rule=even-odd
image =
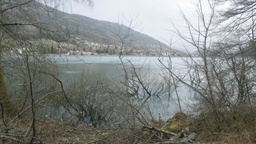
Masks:
[[[200,120],[198,128],[210,133],[242,129],[242,126],[234,127],[236,122],[246,121],[253,125],[255,120],[249,116],[255,113],[252,103],[255,93],[255,2],[230,1],[237,4],[234,10],[217,13],[220,12],[216,11],[219,2],[224,1],[197,1],[198,23],[192,23],[182,13],[187,29],[174,25],[174,33],[180,37],[181,44],[185,48],[187,45],[195,48],[199,55],[183,58],[187,66],[185,73],[178,75],[162,62],[173,78],[189,88],[195,102],[193,108]],[[207,8],[210,11],[205,11]],[[250,137],[253,133],[250,131]]]

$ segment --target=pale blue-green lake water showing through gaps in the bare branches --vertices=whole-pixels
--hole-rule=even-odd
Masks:
[[[87,79],[87,81],[110,81],[112,83],[118,84],[118,82],[123,81],[125,71],[123,71],[123,66],[121,65],[121,61],[118,57],[100,57],[100,56],[83,56],[83,57],[76,57],[76,56],[57,56],[52,55],[50,56],[53,61],[57,62],[57,65],[59,65],[61,74],[60,79],[64,84],[65,90],[68,90],[68,88],[72,88],[72,83],[81,82],[82,79]],[[160,82],[166,83],[166,80],[164,80],[164,75],[168,75],[168,71],[164,70],[163,67],[160,65],[158,61],[158,57],[123,57],[122,61],[125,63],[125,65],[129,68],[127,68],[127,72],[133,71],[131,69],[131,63],[135,67],[139,68],[136,69],[138,74],[143,78],[143,81],[147,84],[151,84],[151,87],[154,87],[157,89],[156,84],[159,84]],[[163,63],[168,65],[168,58],[162,59]],[[131,62],[131,63],[130,63]],[[186,70],[184,69],[185,65],[182,60],[182,58],[172,58],[172,68],[174,70],[174,73],[177,75],[186,73]],[[26,73],[26,70],[24,71]],[[18,74],[20,71],[18,72]],[[10,81],[9,80],[9,90],[11,95],[17,96],[19,92],[22,92],[22,88],[26,87],[27,85],[23,84],[22,77],[19,77],[19,75],[16,75],[18,77],[18,81]],[[20,73],[22,74],[22,73]],[[57,75],[57,74],[56,74]],[[36,79],[38,79],[37,82],[34,83],[35,90],[38,90],[38,96],[45,95],[44,92],[52,91],[54,90],[54,85],[51,87],[49,83],[53,82],[54,79],[52,77],[47,77],[45,75],[35,75]],[[45,78],[46,77],[46,78]],[[13,77],[14,78],[14,77]],[[88,83],[89,83],[88,82]],[[19,86],[19,84],[23,84],[22,86]],[[48,88],[46,88],[48,87]],[[49,89],[53,88],[53,89]],[[174,88],[172,87],[172,90]],[[40,91],[43,91],[42,93]],[[162,91],[162,90],[159,90]],[[26,92],[26,91],[25,91]],[[37,91],[34,91],[37,92]],[[189,110],[187,107],[188,103],[191,103],[189,100],[189,90],[187,87],[182,86],[180,83],[178,83],[177,87],[177,94],[180,97],[181,100],[181,108],[184,110]],[[22,98],[24,98],[24,95],[26,94],[20,94]],[[162,120],[170,118],[174,113],[179,111],[179,107],[177,104],[177,97],[176,93],[172,92],[171,95],[168,95],[167,92],[163,92],[160,96],[160,99],[151,98],[147,101],[147,103],[144,103],[146,105],[143,111],[149,111],[152,113],[152,116],[154,118],[160,117]],[[51,100],[51,99],[50,99]],[[137,98],[135,99],[135,104],[141,104],[143,103],[144,99]],[[51,111],[51,109],[48,109],[47,111]],[[60,108],[59,111],[56,109],[54,110],[53,115],[56,115],[56,113],[59,113],[59,115],[62,115],[63,108]],[[148,115],[148,113],[145,112],[145,115]],[[51,113],[51,112],[50,112]],[[159,115],[160,114],[160,115]],[[151,116],[148,116],[151,117]]]

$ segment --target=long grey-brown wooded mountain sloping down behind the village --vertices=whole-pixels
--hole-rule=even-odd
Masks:
[[[24,10],[26,15],[19,14],[19,20],[26,23],[35,23],[36,26],[40,25],[40,27],[49,29],[52,32],[51,37],[55,38],[55,40],[76,37],[79,40],[86,40],[93,43],[121,45],[122,42],[118,35],[121,37],[125,36],[127,29],[129,29],[123,24],[96,20],[77,14],[68,14],[67,12],[43,5],[42,3],[31,6],[31,9]],[[36,31],[35,27],[27,27],[30,35],[33,33],[32,37],[27,37],[33,39],[40,38],[42,37],[42,32],[47,39],[50,37],[48,36],[49,33],[41,29],[40,31]],[[124,45],[144,50],[160,50],[161,45],[163,50],[169,49],[166,44],[160,43],[159,45],[158,40],[133,29],[130,29],[130,36],[127,37]],[[172,50],[174,53],[182,53],[176,49]]]

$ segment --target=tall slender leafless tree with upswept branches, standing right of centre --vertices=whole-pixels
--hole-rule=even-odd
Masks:
[[[205,15],[203,5],[208,3],[210,9],[210,14]],[[211,48],[211,37],[213,36],[213,18],[216,3],[210,1],[198,1],[196,5],[196,12],[198,17],[197,26],[193,26],[187,17],[183,14],[184,22],[187,24],[188,35],[184,35],[179,29],[175,28],[176,35],[180,36],[181,40],[188,43],[196,48],[200,55],[201,61],[195,60],[195,58],[190,57],[189,61],[185,61],[188,66],[188,77],[191,81],[186,81],[185,76],[177,77],[172,71],[171,73],[179,79],[179,81],[186,86],[192,88],[201,100],[205,103],[210,104],[213,111],[217,112],[217,105],[214,100],[214,77],[210,73],[210,61],[209,52]]]

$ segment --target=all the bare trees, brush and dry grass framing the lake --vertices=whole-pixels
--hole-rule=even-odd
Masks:
[[[75,34],[41,22],[40,8],[46,6],[38,2],[50,5],[62,1],[0,2],[2,142],[256,142],[255,1],[197,1],[196,24],[183,14],[187,29],[174,25],[173,32],[183,40],[183,46],[193,46],[200,56],[183,59],[185,73],[177,73],[171,56],[162,58],[159,54],[159,75],[145,73],[144,65],[126,60],[122,52],[132,36],[131,20],[128,28],[122,29],[120,24],[115,33],[121,45],[117,69],[122,78],[111,81],[99,73],[85,73],[73,83],[61,81],[56,61],[42,49],[51,43],[66,48],[63,44],[74,45],[73,41],[81,46],[81,41]],[[92,5],[89,0],[76,2]],[[232,9],[216,11],[225,2],[230,2]],[[47,8],[44,10],[51,19],[54,10]],[[207,14],[206,8],[210,9]],[[48,43],[39,43],[38,39]],[[10,53],[14,47],[23,52]],[[191,98],[192,111],[182,107],[178,87],[190,91],[186,98]],[[151,99],[164,96],[175,98],[179,105],[179,112],[167,121],[153,116],[148,106]]]

